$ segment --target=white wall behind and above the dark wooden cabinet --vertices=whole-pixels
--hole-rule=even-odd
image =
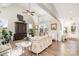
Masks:
[[[17,4],[11,5],[6,8],[2,8],[1,11],[2,12],[0,13],[0,19],[8,21],[8,28],[13,33],[15,32],[14,22],[18,21],[17,14],[22,14],[24,16],[24,20],[26,21],[26,23],[32,23],[32,18],[26,14],[23,14],[22,12],[24,11],[24,8]]]

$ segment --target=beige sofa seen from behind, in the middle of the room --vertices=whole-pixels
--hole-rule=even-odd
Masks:
[[[52,39],[48,35],[36,36],[32,38],[31,51],[37,55],[52,44]]]

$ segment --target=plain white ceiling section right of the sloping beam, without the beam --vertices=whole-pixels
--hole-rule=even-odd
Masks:
[[[59,18],[79,18],[79,3],[56,3],[54,6]]]

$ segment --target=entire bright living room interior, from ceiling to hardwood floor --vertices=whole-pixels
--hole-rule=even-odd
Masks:
[[[0,56],[79,55],[78,7],[72,3],[0,3]]]

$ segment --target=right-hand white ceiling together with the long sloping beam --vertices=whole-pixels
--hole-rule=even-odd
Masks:
[[[38,5],[57,19],[79,19],[78,3],[48,3]]]

